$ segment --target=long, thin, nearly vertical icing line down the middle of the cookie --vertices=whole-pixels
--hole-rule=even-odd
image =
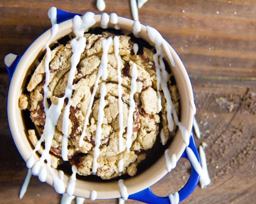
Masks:
[[[117,62],[117,79],[118,79],[118,109],[119,109],[119,133],[118,133],[118,149],[119,152],[123,151],[123,100],[122,100],[122,77],[121,77],[121,63],[120,63],[120,56],[119,56],[119,37],[114,37],[114,50],[115,50],[115,57]]]

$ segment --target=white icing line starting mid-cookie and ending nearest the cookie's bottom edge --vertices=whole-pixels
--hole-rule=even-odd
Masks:
[[[97,129],[96,129],[96,135],[95,135],[95,147],[93,152],[93,174],[97,172],[97,158],[100,155],[100,140],[101,140],[101,134],[102,134],[102,128],[101,125],[103,123],[103,117],[104,117],[104,108],[105,108],[105,95],[106,95],[106,85],[104,83],[101,84],[100,87],[100,105],[99,105],[99,113],[97,118]]]

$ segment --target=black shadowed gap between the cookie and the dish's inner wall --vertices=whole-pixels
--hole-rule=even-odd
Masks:
[[[124,35],[127,33],[121,31],[121,30],[115,30],[115,29],[102,29],[102,28],[94,28],[94,29],[90,29],[88,31],[88,33],[91,33],[91,34],[102,34],[102,31],[107,31],[107,32],[110,32],[114,35]],[[59,39],[57,42],[55,42],[54,44],[52,44],[52,46],[50,47],[51,50],[53,50],[54,48],[56,48],[56,46],[58,46],[59,44],[63,44],[63,45],[66,45],[67,42],[71,39],[70,37],[72,36],[71,35],[67,35],[67,36],[64,36],[63,38]],[[131,41],[133,41],[134,43],[137,43],[139,45],[139,50],[138,50],[138,53],[137,54],[142,54],[143,53],[143,47],[146,47],[150,50],[152,50],[154,53],[155,53],[155,49],[146,41],[144,41],[143,39],[141,38],[136,38],[133,34],[128,34],[129,37],[131,37]],[[43,53],[40,53],[39,56],[38,56],[38,59],[39,59],[39,62],[43,59],[43,56],[44,56],[45,52]],[[164,60],[164,64],[166,66],[166,70],[168,73],[171,73],[171,69],[170,69],[170,66],[169,64]],[[35,70],[35,66],[33,68],[33,70]],[[30,78],[31,78],[31,73],[33,73],[33,71],[30,71],[28,72],[28,76],[25,80],[25,87],[27,86]],[[170,81],[171,81],[171,85],[176,85],[176,81],[174,79],[174,76],[171,75],[170,76]],[[24,87],[24,86],[23,86]],[[26,89],[23,90],[23,93],[28,93]],[[179,104],[180,104],[180,100],[179,100]],[[180,106],[179,106],[180,107]],[[179,110],[179,113],[181,111]],[[159,114],[160,115],[160,121],[161,120],[161,113]],[[25,111],[22,111],[22,116],[24,118],[24,125],[26,127],[26,130],[29,130],[29,129],[34,129],[36,131],[36,127],[34,125],[34,123],[32,122],[31,118],[30,118],[30,112],[29,110],[25,110]],[[178,116],[180,116],[180,114],[178,114]],[[159,125],[159,132],[160,130],[162,129],[162,126],[161,126],[161,123]],[[177,127],[176,127],[176,131],[177,131]],[[40,134],[36,131],[36,134],[38,136],[38,139],[40,138]],[[157,160],[159,160],[163,155],[164,155],[164,151],[168,148],[168,146],[171,144],[173,138],[170,138],[168,141],[167,141],[167,144],[166,145],[162,145],[161,143],[161,139],[160,139],[160,134],[157,136],[157,139],[156,139],[156,142],[155,144],[153,145],[153,147],[147,151],[144,151],[146,153],[146,159],[143,160],[141,163],[139,163],[139,165],[137,166],[137,173],[135,176],[133,177],[136,177],[138,175],[140,175],[142,172],[144,172],[146,169],[150,168],[152,165],[154,165],[154,163],[156,163]],[[83,154],[83,155],[86,155],[86,154]],[[67,175],[71,175],[72,174],[72,170],[71,170],[71,164],[67,161],[67,162],[63,162],[61,165],[58,166],[58,169],[59,170],[63,170],[63,172]],[[112,178],[112,179],[108,179],[108,180],[103,180],[102,178],[100,178],[99,176],[95,176],[95,175],[89,175],[89,176],[80,176],[80,175],[76,175],[76,178],[79,179],[79,180],[84,180],[84,181],[93,181],[93,182],[112,182],[112,181],[118,181],[119,179],[127,179],[127,178],[130,178],[131,176],[129,176],[128,174],[127,175],[122,175],[122,176],[117,176],[115,178]]]

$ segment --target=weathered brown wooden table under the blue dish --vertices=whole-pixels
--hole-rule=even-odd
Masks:
[[[107,13],[131,18],[129,0],[105,1]],[[3,64],[6,54],[22,54],[50,28],[47,11],[51,6],[98,13],[95,0],[0,1],[0,203],[60,203],[61,196],[37,177],[23,199],[18,198],[27,168],[8,129],[8,76]],[[180,54],[194,86],[202,132],[196,144],[208,144],[211,185],[198,186],[183,203],[256,203],[256,1],[149,0],[139,16]],[[188,161],[181,159],[152,187],[153,192],[159,196],[175,192],[186,183],[189,168]]]

